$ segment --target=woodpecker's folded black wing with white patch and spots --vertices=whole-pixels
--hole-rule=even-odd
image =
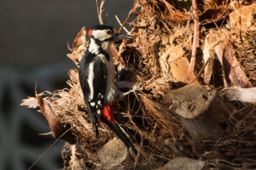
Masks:
[[[87,52],[84,55],[79,67],[79,80],[90,121],[98,137],[108,71],[99,56]]]

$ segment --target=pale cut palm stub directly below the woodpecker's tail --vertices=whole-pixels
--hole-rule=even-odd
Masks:
[[[126,159],[127,149],[120,139],[114,138],[98,150],[97,156],[103,169],[122,168],[120,165]]]

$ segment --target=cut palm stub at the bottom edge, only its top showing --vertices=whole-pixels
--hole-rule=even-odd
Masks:
[[[164,167],[160,167],[159,170],[202,170],[204,167],[206,167],[205,161],[177,157],[169,161]]]

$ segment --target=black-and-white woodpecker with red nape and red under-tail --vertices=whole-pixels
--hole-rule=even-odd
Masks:
[[[88,46],[79,65],[79,81],[96,137],[99,135],[99,124],[102,121],[125,143],[128,156],[130,148],[137,155],[129,135],[114,118],[114,105],[130,92],[123,94],[115,86],[113,56],[109,53],[110,45],[114,41],[133,37],[117,34],[112,26],[104,25],[92,27],[88,36]]]

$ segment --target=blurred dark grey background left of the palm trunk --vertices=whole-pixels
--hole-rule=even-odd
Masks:
[[[119,29],[114,14],[124,21],[131,0],[107,0],[102,18]],[[20,106],[22,99],[67,88],[67,71],[75,68],[67,58],[67,42],[80,29],[98,24],[94,0],[0,1],[0,169],[25,170],[54,143],[49,124],[36,109]],[[32,168],[62,167],[59,140]]]

